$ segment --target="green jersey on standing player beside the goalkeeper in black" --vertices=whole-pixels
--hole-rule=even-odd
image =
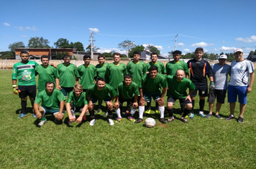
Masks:
[[[178,69],[183,69],[187,74],[188,64],[186,64],[186,62],[183,62],[181,60],[179,62],[170,61],[165,65],[165,74],[174,76]]]

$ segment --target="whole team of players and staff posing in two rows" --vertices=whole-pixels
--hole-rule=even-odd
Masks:
[[[209,62],[202,59],[204,49],[195,50],[196,57],[188,63],[180,60],[181,52],[173,52],[173,61],[165,66],[158,62],[158,55],[151,54],[151,62],[145,64],[140,61],[140,52],[134,52],[134,60],[127,65],[120,62],[120,54],[114,53],[114,62],[105,62],[104,55],[99,55],[99,64],[90,64],[91,57],[84,56],[84,64],[76,67],[70,63],[70,56],[66,55],[62,64],[49,65],[49,57],[42,56],[42,64],[29,61],[28,52],[21,52],[21,62],[14,64],[12,72],[12,84],[14,94],[19,93],[22,100],[22,113],[20,118],[27,115],[27,96],[34,107],[35,117],[40,119],[38,126],[47,122],[45,115],[54,115],[55,122],[63,120],[63,110],[66,107],[68,117],[72,123],[86,120],[86,114],[90,113],[90,125],[95,124],[94,105],[99,102],[101,112],[102,100],[106,102],[109,125],[114,125],[113,103],[116,111],[116,122],[121,122],[122,112],[120,106],[127,102],[128,119],[132,122],[142,122],[143,113],[150,113],[151,98],[156,102],[155,112],[160,113],[160,122],[166,123],[164,118],[164,96],[167,91],[167,108],[170,117],[168,122],[173,122],[173,104],[180,100],[181,121],[188,123],[186,116],[193,118],[193,107],[198,92],[199,112],[201,117],[211,117],[214,100],[217,98],[216,117],[221,118],[219,110],[227,93],[227,77],[231,76],[228,88],[228,102],[230,102],[230,116],[226,120],[234,119],[234,107],[237,95],[240,103],[238,122],[243,122],[244,109],[247,104],[247,93],[252,91],[254,82],[254,66],[252,62],[242,57],[242,49],[234,51],[236,60],[231,66],[226,64],[227,56],[219,56],[219,63],[210,66]],[[190,69],[191,79],[188,79]],[[36,95],[35,76],[39,75]],[[167,75],[167,76],[166,76]],[[17,77],[19,87],[17,87]],[[207,77],[210,85],[208,92]],[[249,79],[250,77],[250,79]],[[79,80],[80,79],[80,80]],[[186,90],[189,89],[187,93]],[[18,92],[20,91],[20,92]],[[65,104],[65,97],[68,100]],[[204,115],[205,97],[209,101],[209,114]],[[114,102],[115,100],[115,102]],[[39,106],[40,102],[42,105]],[[145,103],[147,110],[145,111]],[[185,107],[186,106],[186,107]],[[130,110],[129,107],[132,107]],[[134,120],[133,115],[139,110],[139,118]],[[81,112],[76,119],[75,112]]]

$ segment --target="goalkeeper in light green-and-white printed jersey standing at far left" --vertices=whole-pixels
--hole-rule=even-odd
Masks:
[[[19,118],[23,118],[27,116],[27,96],[29,96],[29,100],[33,107],[35,96],[37,95],[37,86],[35,83],[35,67],[37,67],[38,64],[37,62],[29,60],[29,53],[26,51],[22,51],[20,53],[20,57],[22,58],[22,61],[14,64],[12,69],[12,87],[14,94],[19,94],[19,98],[22,101],[22,112],[19,115]],[[17,86],[17,79],[19,82],[19,87]],[[35,117],[34,114],[33,117]]]

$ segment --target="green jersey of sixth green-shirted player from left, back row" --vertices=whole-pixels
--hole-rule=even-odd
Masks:
[[[132,81],[139,84],[142,80],[142,76],[147,72],[147,66],[144,62],[137,63],[129,62],[127,64],[127,74],[132,75]]]

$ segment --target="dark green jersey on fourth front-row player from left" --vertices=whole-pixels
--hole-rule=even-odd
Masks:
[[[119,96],[119,100],[133,100],[134,95],[140,95],[139,87],[135,82],[132,82],[129,86],[121,82],[118,84],[116,92]]]

